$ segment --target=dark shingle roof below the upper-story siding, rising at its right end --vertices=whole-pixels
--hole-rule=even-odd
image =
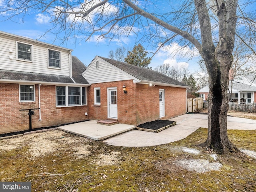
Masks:
[[[75,56],[72,56],[72,78],[78,84],[89,84],[82,76],[86,66]],[[17,80],[32,82],[51,82],[74,84],[70,76],[42,74],[34,72],[21,72],[12,70],[0,70],[0,80]]]

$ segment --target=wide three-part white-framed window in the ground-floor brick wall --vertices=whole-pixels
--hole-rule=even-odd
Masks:
[[[56,86],[56,106],[86,105],[86,88]]]

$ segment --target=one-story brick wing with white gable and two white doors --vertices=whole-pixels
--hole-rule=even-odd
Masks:
[[[139,125],[186,113],[189,86],[154,70],[96,56],[82,75],[91,119]]]

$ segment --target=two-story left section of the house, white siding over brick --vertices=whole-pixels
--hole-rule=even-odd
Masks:
[[[86,68],[72,50],[0,32],[0,134],[88,119]],[[40,109],[39,109],[40,108]]]

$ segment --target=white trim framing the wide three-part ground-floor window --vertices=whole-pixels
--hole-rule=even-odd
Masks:
[[[65,103],[66,105],[58,105],[57,100],[57,87],[65,87]],[[68,87],[80,87],[80,104],[79,105],[68,105]],[[82,104],[82,87],[81,86],[55,86],[55,100],[56,100],[56,107],[76,107],[76,106],[86,106],[87,105],[87,87],[85,87],[85,104]]]

